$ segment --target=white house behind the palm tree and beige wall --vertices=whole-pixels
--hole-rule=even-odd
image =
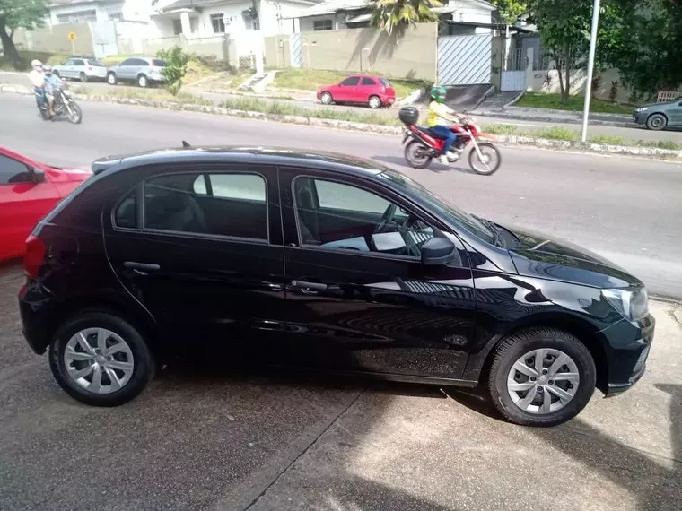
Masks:
[[[372,17],[372,0],[325,0],[294,14],[296,31],[339,30],[366,27]],[[434,7],[446,30],[465,35],[489,33],[497,8],[485,0],[445,0]],[[461,23],[461,25],[457,25]],[[458,27],[453,30],[450,27]]]

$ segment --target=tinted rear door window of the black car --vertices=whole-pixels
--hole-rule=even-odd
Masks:
[[[265,179],[174,174],[144,183],[144,228],[267,240]]]

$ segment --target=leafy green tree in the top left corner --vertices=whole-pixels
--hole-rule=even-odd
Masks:
[[[41,27],[48,13],[48,0],[0,0],[0,42],[4,56],[14,67],[22,65],[22,58],[14,47],[14,30]]]

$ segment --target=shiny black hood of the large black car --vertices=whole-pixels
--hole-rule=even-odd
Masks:
[[[509,249],[520,275],[602,289],[643,286],[642,281],[590,250],[538,232],[505,229],[520,241],[519,247]]]

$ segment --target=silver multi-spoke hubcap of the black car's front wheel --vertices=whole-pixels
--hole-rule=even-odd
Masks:
[[[564,351],[541,348],[514,362],[507,375],[507,393],[522,411],[546,415],[573,400],[580,387],[575,361]]]

